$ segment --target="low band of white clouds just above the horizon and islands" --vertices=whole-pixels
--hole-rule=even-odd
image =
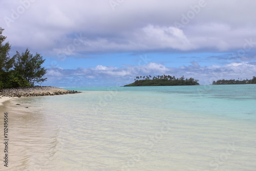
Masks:
[[[193,77],[200,80],[200,84],[210,84],[213,80],[218,79],[251,79],[255,76],[256,65],[249,64],[247,62],[243,63],[229,63],[226,66],[209,66],[201,67],[198,62],[192,61],[190,66],[181,67],[165,67],[159,63],[150,62],[144,66],[126,66],[122,68],[116,67],[106,67],[97,66],[96,68],[78,68],[76,70],[65,70],[65,69],[49,69],[47,77],[50,80],[54,78],[68,80],[70,77],[79,76],[79,81],[84,79],[89,79],[88,82],[95,80],[103,81],[101,86],[115,86],[115,81],[127,84],[133,82],[136,76],[146,76],[146,75],[174,75],[176,77],[181,77],[184,75],[185,78]],[[115,81],[113,81],[115,80]],[[66,81],[66,84],[72,85],[72,82]],[[75,84],[79,85],[79,81]],[[66,85],[62,85],[66,86]],[[80,84],[79,86],[84,86]]]

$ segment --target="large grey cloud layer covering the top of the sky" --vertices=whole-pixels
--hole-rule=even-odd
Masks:
[[[75,34],[83,36],[77,53],[228,51],[256,37],[254,1],[131,0],[114,10],[110,2],[1,1],[0,25],[13,46],[53,54],[72,44]]]

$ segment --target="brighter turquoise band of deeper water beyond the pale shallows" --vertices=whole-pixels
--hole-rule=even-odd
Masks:
[[[253,84],[186,87],[86,87],[64,89],[75,91],[137,92],[145,96],[149,95],[163,98],[164,100],[156,105],[165,109],[169,108],[173,111],[200,113],[203,115],[224,115],[241,119],[256,119],[256,86]]]

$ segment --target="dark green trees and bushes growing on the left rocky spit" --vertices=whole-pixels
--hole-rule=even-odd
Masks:
[[[45,59],[40,54],[32,55],[27,49],[20,55],[17,51],[13,57],[9,56],[11,46],[9,42],[4,44],[6,36],[4,29],[0,27],[0,89],[30,87],[35,83],[41,83],[47,78],[46,69],[41,67]]]

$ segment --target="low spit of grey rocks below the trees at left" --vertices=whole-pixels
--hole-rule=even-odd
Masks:
[[[30,97],[30,96],[54,96],[62,94],[81,93],[51,86],[34,86],[0,90],[0,96],[5,97]]]

